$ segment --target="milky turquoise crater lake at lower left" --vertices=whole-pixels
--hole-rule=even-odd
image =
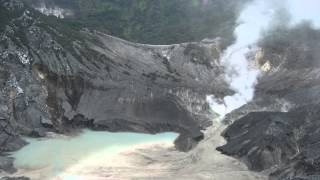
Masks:
[[[20,172],[22,175],[33,172],[39,179],[54,179],[68,168],[89,161],[96,165],[103,164],[110,157],[139,145],[170,143],[173,146],[177,136],[176,133],[150,135],[84,130],[73,137],[27,138],[29,144],[13,153],[12,157],[15,158],[15,167],[24,171]]]

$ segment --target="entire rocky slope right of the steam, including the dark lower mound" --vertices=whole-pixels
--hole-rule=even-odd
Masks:
[[[308,24],[267,34],[259,63],[270,67],[253,101],[226,118],[228,143],[219,151],[270,179],[319,176],[319,39]]]

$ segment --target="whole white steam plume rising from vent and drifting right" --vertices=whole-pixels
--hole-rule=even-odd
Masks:
[[[261,33],[271,29],[275,22],[279,24],[279,21],[285,20],[290,26],[310,20],[315,27],[320,27],[318,7],[319,0],[255,0],[248,4],[241,12],[239,25],[234,31],[237,40],[227,48],[221,61],[226,70],[225,79],[236,93],[226,96],[222,101],[213,95],[207,97],[211,109],[220,115],[220,119],[251,101],[254,96],[260,72],[250,67],[246,56],[252,51],[250,47],[255,46]]]

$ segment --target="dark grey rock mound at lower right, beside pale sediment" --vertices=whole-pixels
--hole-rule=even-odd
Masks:
[[[319,175],[319,106],[290,112],[253,112],[227,128],[227,155],[245,157],[250,168],[262,171],[282,165],[272,179]],[[235,138],[236,137],[236,138]]]

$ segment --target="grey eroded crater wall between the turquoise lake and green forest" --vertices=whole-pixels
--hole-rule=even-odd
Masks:
[[[108,131],[181,135],[186,151],[211,124],[206,94],[231,94],[221,41],[152,46],[77,31],[19,0],[1,0],[0,153],[21,136]],[[212,83],[215,82],[215,83]],[[4,157],[0,169],[14,171]]]

